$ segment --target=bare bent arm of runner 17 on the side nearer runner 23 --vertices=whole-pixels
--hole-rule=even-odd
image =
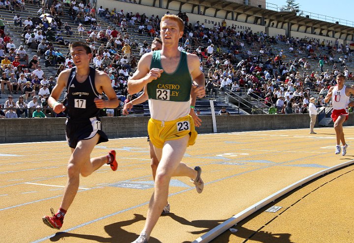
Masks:
[[[108,75],[103,72],[98,72],[98,73],[96,73],[96,76],[98,76],[98,80],[100,81],[102,91],[108,97],[108,101],[102,100],[99,98],[95,98],[94,102],[96,104],[96,107],[101,108],[101,109],[102,108],[116,108],[116,107],[118,107],[119,101],[118,101],[116,92],[112,88],[111,80],[108,77]]]

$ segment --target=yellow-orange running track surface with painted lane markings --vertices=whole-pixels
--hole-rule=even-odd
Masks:
[[[308,130],[199,135],[183,162],[202,167],[204,191],[198,194],[188,178],[173,178],[171,214],[161,216],[149,243],[192,242],[270,194],[353,160],[354,128],[344,131],[346,156],[334,155],[333,128],[317,129],[317,135]],[[130,243],[139,235],[153,191],[146,138],[111,139],[96,146],[92,157],[117,151],[118,170],[105,165],[80,179],[60,231],[41,218],[60,204],[70,156],[66,142],[0,148],[0,242]],[[353,169],[336,171],[276,201],[283,207],[278,212],[249,217],[235,227],[236,233],[227,231],[214,242],[351,242]]]

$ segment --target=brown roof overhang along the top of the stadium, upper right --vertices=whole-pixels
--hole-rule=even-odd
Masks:
[[[333,30],[335,32],[341,32],[342,34],[354,34],[354,27],[348,27],[317,19],[297,16],[294,12],[278,12],[227,0],[169,0],[169,2],[171,1],[177,1],[181,4],[189,3],[193,4],[194,6],[201,5],[207,9],[215,9],[215,16],[216,13],[222,9],[228,13],[235,12],[236,14],[245,14],[247,17],[264,17],[266,19],[296,24],[304,27],[322,28],[330,31]]]

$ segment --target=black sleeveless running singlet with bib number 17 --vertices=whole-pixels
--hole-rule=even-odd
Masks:
[[[71,69],[66,85],[66,117],[70,119],[89,119],[97,117],[99,108],[96,108],[94,98],[101,98],[95,88],[95,69],[90,67],[89,76],[84,82],[78,82],[75,78],[76,67]]]

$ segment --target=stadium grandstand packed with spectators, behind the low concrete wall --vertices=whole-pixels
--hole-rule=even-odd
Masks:
[[[313,96],[321,118],[328,117],[330,104],[324,103],[328,87],[339,73],[348,81],[354,78],[354,27],[274,11],[266,5],[251,0],[5,4],[0,15],[0,72],[5,77],[0,103],[6,111],[23,96],[19,111],[34,108],[29,103],[39,96],[37,103],[48,108],[45,98],[60,71],[74,65],[70,44],[81,40],[93,52],[91,65],[110,76],[122,101],[113,115],[121,115],[123,102],[139,95],[127,99],[127,81],[140,56],[150,52],[151,41],[159,37],[161,17],[171,13],[185,23],[179,49],[197,54],[206,76],[207,96],[196,104],[202,115],[211,114],[210,101],[216,112],[226,107],[229,114],[306,113]],[[43,91],[45,84],[49,92]],[[19,117],[31,113],[21,112]],[[57,115],[50,108],[46,112]],[[149,115],[148,103],[135,106],[131,114]],[[107,115],[105,110],[102,115]]]

